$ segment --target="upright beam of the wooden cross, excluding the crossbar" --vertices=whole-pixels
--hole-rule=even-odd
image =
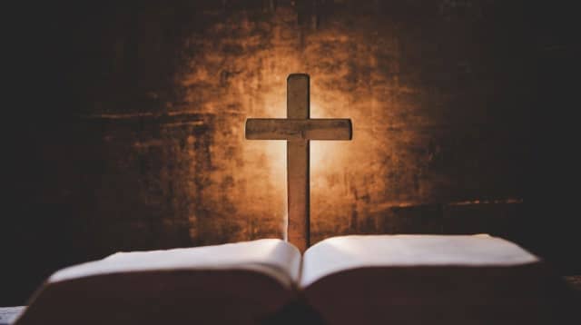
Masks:
[[[291,74],[287,78],[287,118],[307,120],[310,117],[308,74]],[[299,251],[310,246],[310,146],[309,140],[287,142],[287,186],[289,204],[289,241]]]

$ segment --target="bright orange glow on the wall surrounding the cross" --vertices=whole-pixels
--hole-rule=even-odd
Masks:
[[[378,207],[429,198],[438,184],[424,182],[429,139],[407,126],[430,121],[414,100],[419,90],[400,82],[397,39],[388,34],[379,49],[376,35],[343,25],[309,33],[289,25],[296,13],[283,7],[269,19],[258,23],[241,14],[210,27],[220,42],[192,37],[188,44],[195,51],[191,71],[182,75],[183,101],[215,119],[207,132],[211,182],[201,186],[203,209],[192,212],[212,215],[208,231],[237,227],[240,238],[224,235],[233,241],[283,229],[286,143],[246,141],[241,126],[247,118],[286,117],[289,74],[310,74],[311,118],[349,118],[354,127],[350,142],[310,142],[313,243],[357,232]],[[199,172],[208,171],[192,167]]]

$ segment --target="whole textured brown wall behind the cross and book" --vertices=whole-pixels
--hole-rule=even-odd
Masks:
[[[11,121],[26,123],[9,125],[23,135],[5,231],[21,245],[8,261],[22,281],[8,292],[22,300],[54,269],[113,251],[282,237],[284,143],[245,141],[243,123],[285,116],[291,73],[310,74],[312,117],[354,123],[351,142],[311,144],[313,241],[491,232],[542,246],[531,233],[543,219],[526,204],[543,176],[527,176],[548,138],[531,140],[545,117],[530,107],[562,91],[544,76],[573,60],[533,28],[546,9],[174,0],[39,11],[23,65],[43,68],[21,73]]]

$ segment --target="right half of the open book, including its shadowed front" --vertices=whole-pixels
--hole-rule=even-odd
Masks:
[[[554,320],[556,279],[497,237],[363,235],[313,245],[300,288],[332,324],[537,324]]]

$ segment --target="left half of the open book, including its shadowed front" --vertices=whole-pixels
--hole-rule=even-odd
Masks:
[[[56,271],[16,323],[260,323],[299,274],[300,252],[277,239],[118,252]]]

